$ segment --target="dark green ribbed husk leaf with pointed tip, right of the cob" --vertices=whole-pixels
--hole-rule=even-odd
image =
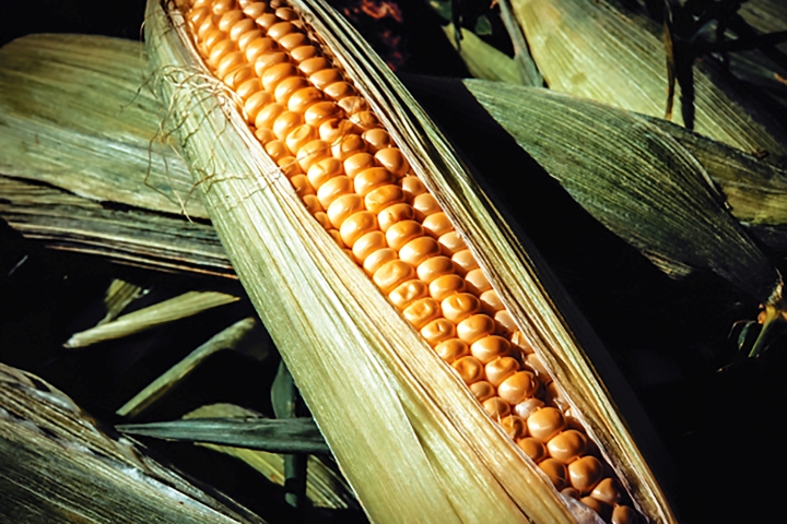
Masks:
[[[680,276],[692,269],[714,271],[762,301],[777,288],[778,273],[723,207],[724,196],[704,166],[683,143],[657,126],[656,119],[548,90],[480,80],[463,81],[463,88],[457,84],[435,82],[432,88],[442,99],[456,100],[468,90],[579,204],[667,273]],[[667,126],[689,142],[691,133]],[[695,151],[707,151],[714,144],[707,139],[691,143]],[[753,160],[724,148],[741,167]],[[725,163],[713,167],[723,176],[732,175]],[[783,206],[787,178],[776,168],[763,167],[774,177],[770,188],[760,186],[759,191],[780,188],[776,194],[783,198],[773,201]],[[750,172],[748,179],[755,176]],[[759,179],[767,181],[762,176]],[[737,178],[727,179],[733,195],[736,183]],[[733,201],[742,206],[740,198]],[[742,207],[741,212],[750,209]]]

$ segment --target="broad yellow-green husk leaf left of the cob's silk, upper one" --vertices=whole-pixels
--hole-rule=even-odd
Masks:
[[[186,166],[151,118],[160,108],[141,88],[146,62],[138,43],[31,35],[0,49],[0,174],[91,200],[207,217],[189,199]]]

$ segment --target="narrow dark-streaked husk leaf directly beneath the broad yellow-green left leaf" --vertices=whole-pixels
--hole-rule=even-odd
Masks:
[[[35,129],[34,123],[31,129]],[[0,150],[5,151],[5,145],[0,142]],[[118,155],[119,164],[124,159]],[[67,174],[62,177],[68,178]],[[149,204],[149,209],[161,198],[141,179],[118,182],[118,187],[124,183],[137,183],[134,200]],[[174,214],[103,205],[95,201],[102,198],[96,189],[89,188],[93,195],[89,199],[35,180],[0,176],[0,218],[24,238],[50,249],[106,257],[118,264],[149,270],[235,277],[210,224],[188,222]],[[114,203],[127,203],[120,201],[122,193],[116,198]]]

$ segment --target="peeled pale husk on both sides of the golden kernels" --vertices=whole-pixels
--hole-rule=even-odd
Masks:
[[[468,246],[637,507],[655,521],[673,521],[578,341],[586,350],[603,349],[538,254],[524,246],[526,239],[514,237],[360,35],[321,2],[294,7],[470,239]],[[175,122],[172,129],[181,138],[233,265],[365,511],[380,522],[573,521],[568,505],[580,511],[579,504],[562,500],[308,215],[224,88],[207,76],[180,13],[167,13],[155,0],[148,8],[152,85],[165,100],[169,126]]]

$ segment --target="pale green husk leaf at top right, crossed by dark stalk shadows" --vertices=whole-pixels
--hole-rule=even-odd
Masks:
[[[667,59],[663,28],[608,0],[513,0],[530,51],[550,88],[622,109],[663,117]],[[694,67],[694,129],[778,163],[787,131],[768,110],[732,83],[713,60]],[[676,97],[673,120],[682,123]]]

